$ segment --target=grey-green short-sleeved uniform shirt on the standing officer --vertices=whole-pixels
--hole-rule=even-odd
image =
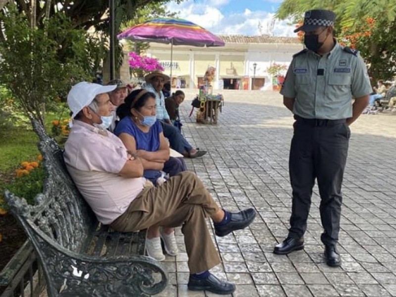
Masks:
[[[307,119],[339,120],[352,116],[352,96],[372,92],[358,52],[336,42],[323,56],[304,49],[293,56],[281,94],[295,98],[293,113]]]

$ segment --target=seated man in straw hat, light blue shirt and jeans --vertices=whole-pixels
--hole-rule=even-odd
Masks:
[[[193,148],[183,137],[178,128],[172,125],[169,114],[165,108],[165,97],[162,93],[164,83],[169,81],[169,76],[160,71],[153,71],[145,76],[145,89],[155,94],[156,117],[162,122],[164,136],[169,140],[171,148],[177,150],[185,157],[196,158],[203,156],[206,150]]]

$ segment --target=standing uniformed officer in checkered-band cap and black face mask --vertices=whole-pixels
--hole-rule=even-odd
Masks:
[[[337,251],[342,194],[347,161],[349,125],[368,103],[371,86],[366,66],[356,50],[341,47],[333,38],[335,13],[313,9],[305,12],[306,49],[293,56],[281,94],[294,113],[294,136],[289,171],[293,206],[288,237],[274,248],[288,254],[304,247],[312,188],[320,193],[326,263],[340,266]],[[354,98],[352,104],[352,97]]]

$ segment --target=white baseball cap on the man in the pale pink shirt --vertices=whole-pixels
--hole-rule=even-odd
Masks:
[[[67,105],[73,112],[71,118],[74,119],[77,113],[85,106],[90,105],[97,95],[111,92],[115,88],[117,88],[117,85],[102,86],[89,82],[81,82],[74,85],[67,95]]]

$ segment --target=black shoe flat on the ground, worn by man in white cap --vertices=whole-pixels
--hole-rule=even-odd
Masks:
[[[235,292],[235,285],[233,283],[219,280],[213,274],[210,274],[206,279],[200,279],[194,275],[190,275],[187,287],[191,291],[209,291],[220,295],[227,295]]]

